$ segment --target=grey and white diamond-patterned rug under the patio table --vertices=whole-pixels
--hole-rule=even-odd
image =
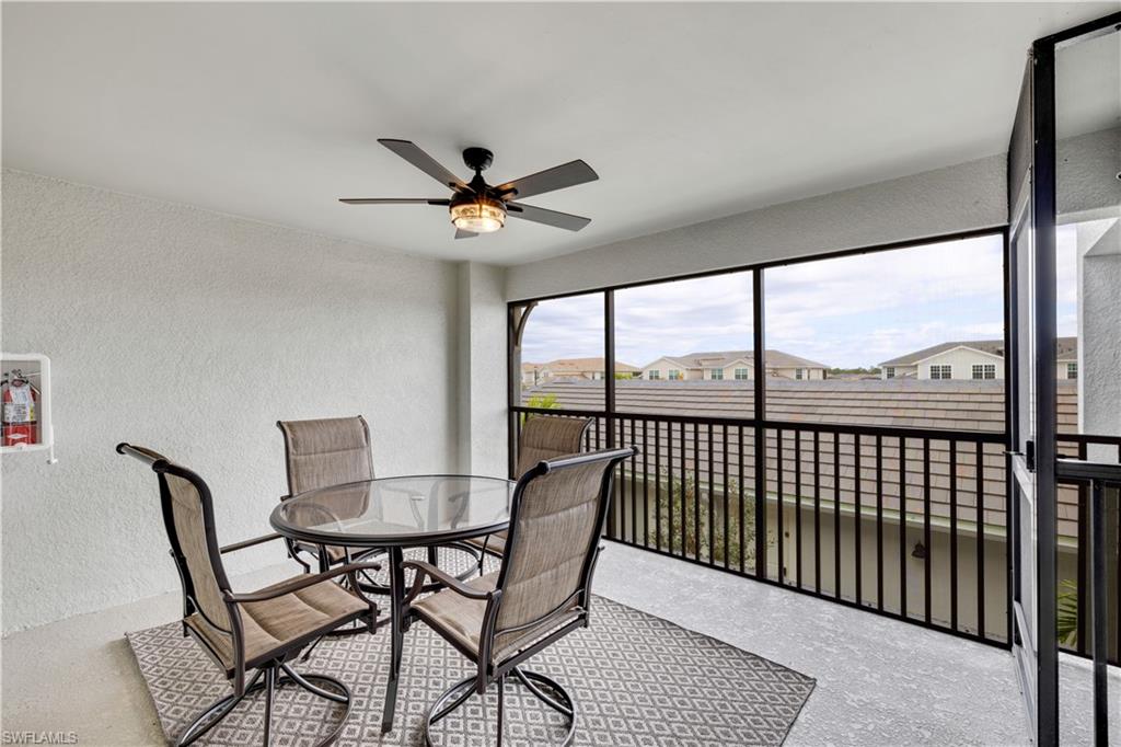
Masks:
[[[814,680],[754,654],[618,602],[593,598],[592,622],[530,658],[524,668],[546,674],[576,701],[576,745],[780,745],[814,689]],[[230,693],[217,667],[182,626],[172,622],[128,634],[169,739],[207,706]],[[300,673],[322,673],[350,686],[354,710],[336,744],[419,745],[428,707],[471,665],[423,622],[405,636],[393,730],[381,734],[389,637],[324,639]],[[508,679],[503,744],[557,744],[563,720]],[[437,725],[434,740],[450,747],[494,744],[495,686]],[[311,746],[330,732],[341,707],[300,688],[277,690],[272,744]],[[195,743],[259,745],[260,695]]]

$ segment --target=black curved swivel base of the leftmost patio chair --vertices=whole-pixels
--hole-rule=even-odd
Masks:
[[[326,745],[330,745],[339,739],[339,735],[342,734],[343,727],[346,726],[346,721],[350,719],[353,706],[350,688],[334,677],[330,677],[324,674],[299,674],[286,663],[274,662],[271,665],[257,671],[253,679],[250,680],[249,684],[245,686],[244,693],[241,695],[226,695],[203,711],[198,718],[196,718],[186,728],[186,730],[184,730],[178,740],[176,740],[176,747],[187,747],[187,745],[197,740],[215,727],[219,721],[229,716],[234,707],[247,695],[261,692],[262,690],[265,691],[263,744],[267,747],[272,731],[274,697],[277,688],[282,688],[288,683],[297,684],[313,695],[324,698],[346,707],[346,711],[339,719],[339,725],[331,731],[331,734],[317,744],[317,747],[325,747]],[[336,690],[337,692],[330,692],[325,689],[325,686]]]

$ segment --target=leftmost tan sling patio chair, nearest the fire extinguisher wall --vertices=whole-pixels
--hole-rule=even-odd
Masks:
[[[348,563],[324,573],[299,574],[250,593],[234,592],[222,555],[278,540],[280,535],[220,547],[210,488],[198,474],[150,449],[121,443],[117,451],[148,464],[158,478],[164,526],[183,584],[183,635],[194,637],[233,688],[232,694],[198,714],[175,744],[192,744],[229,716],[247,695],[263,690],[267,747],[272,729],[274,693],[285,684],[296,684],[345,707],[337,726],[318,744],[334,741],[351,713],[350,689],[327,675],[300,674],[290,662],[340,626],[361,621],[371,633],[374,630],[377,606],[352,589],[358,588],[358,573],[378,566]],[[350,577],[350,589],[334,582],[342,575]],[[247,681],[250,672],[253,674]]]

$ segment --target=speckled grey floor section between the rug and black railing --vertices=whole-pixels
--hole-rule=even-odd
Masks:
[[[1030,741],[1008,651],[606,544],[596,593],[817,680],[787,745]],[[1114,670],[1111,692],[1119,688]],[[1090,693],[1088,667],[1064,656],[1064,744],[1092,743]],[[1119,721],[1121,706],[1114,702],[1111,736],[1121,744]]]

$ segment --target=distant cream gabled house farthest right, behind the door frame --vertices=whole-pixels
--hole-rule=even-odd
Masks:
[[[1078,378],[1078,339],[1058,338],[1055,376]],[[1004,341],[943,342],[880,363],[884,379],[1002,379]]]

